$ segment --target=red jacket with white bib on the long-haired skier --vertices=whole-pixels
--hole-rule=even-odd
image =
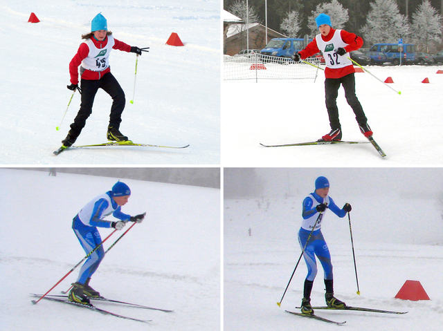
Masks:
[[[112,36],[106,36],[105,40],[98,41],[93,36],[78,48],[77,54],[71,59],[69,63],[69,75],[71,75],[71,83],[78,84],[78,66],[82,64],[82,79],[98,80],[105,73],[109,73],[109,53],[111,49],[131,51],[131,46],[122,41],[118,41]],[[96,63],[96,68],[93,64]],[[93,70],[96,69],[96,70]]]

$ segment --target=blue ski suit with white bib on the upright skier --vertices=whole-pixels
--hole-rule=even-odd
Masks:
[[[309,234],[311,233],[312,228],[314,227],[314,224],[319,216],[316,206],[320,203],[327,203],[327,209],[331,209],[336,216],[340,218],[346,216],[346,211],[338,208],[334,200],[329,198],[329,196],[326,196],[326,198],[323,199],[315,192],[309,194],[309,196],[303,200],[303,221],[300,231],[298,231],[298,242],[300,243],[302,249],[305,247],[307,238],[309,237]],[[308,281],[314,281],[317,275],[316,256],[323,266],[325,279],[334,278],[332,274],[332,263],[329,248],[327,247],[325,238],[323,238],[323,234],[321,233],[323,216],[325,216],[327,209],[323,211],[323,214],[318,219],[315,229],[312,231],[311,238],[309,238],[309,243],[306,245],[305,252],[303,252],[303,257],[305,258],[307,265],[306,279]]]

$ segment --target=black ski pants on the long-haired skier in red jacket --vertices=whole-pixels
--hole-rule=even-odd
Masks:
[[[94,98],[96,97],[99,88],[108,93],[113,102],[111,106],[111,114],[109,115],[109,126],[114,128],[120,128],[120,122],[122,122],[121,115],[123,109],[125,109],[125,93],[118,84],[117,79],[111,73],[106,73],[98,80],[81,80],[82,88],[82,102],[80,104],[80,110],[71,124],[71,131],[69,131],[71,137],[77,138],[80,132],[86,124],[86,120],[92,113],[92,105]]]

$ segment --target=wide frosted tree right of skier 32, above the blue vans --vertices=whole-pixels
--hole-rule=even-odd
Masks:
[[[370,3],[371,9],[366,23],[361,28],[363,39],[369,45],[376,43],[397,43],[399,38],[409,35],[409,23],[401,15],[395,0],[375,0]]]

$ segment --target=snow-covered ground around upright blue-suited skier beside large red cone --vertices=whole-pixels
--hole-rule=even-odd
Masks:
[[[321,175],[329,178],[329,195],[338,206],[345,202],[352,205],[350,216],[360,296],[356,294],[347,217],[327,214],[322,227],[332,254],[336,296],[348,305],[408,314],[320,310],[316,313],[335,321],[347,321],[346,330],[442,329],[441,168],[277,168],[258,169],[257,173],[259,178],[267,180],[263,183],[267,191],[262,196],[224,200],[225,331],[336,330],[336,325],[284,312],[300,305],[307,272],[303,260],[281,308],[276,305],[301,252],[297,231],[302,200],[314,190],[314,180]],[[286,199],[283,194],[288,192],[291,196]],[[406,280],[419,281],[431,301],[395,299]],[[311,303],[325,304],[320,265]]]

